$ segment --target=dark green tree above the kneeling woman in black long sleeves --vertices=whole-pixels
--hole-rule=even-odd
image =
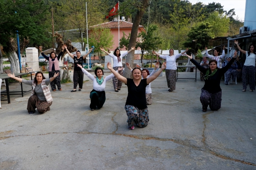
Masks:
[[[208,41],[214,37],[211,31],[212,26],[209,22],[202,22],[196,27],[192,27],[187,34],[187,41],[184,46],[192,48],[192,40],[196,40],[195,51],[202,50],[205,46],[208,46]]]

